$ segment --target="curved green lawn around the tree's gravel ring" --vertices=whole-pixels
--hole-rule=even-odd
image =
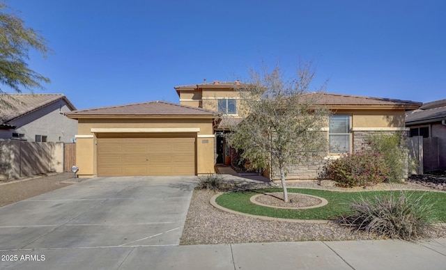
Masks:
[[[375,198],[375,196],[398,194],[401,191],[360,191],[360,192],[339,192],[323,191],[316,189],[288,189],[289,193],[303,193],[318,196],[328,200],[328,205],[312,209],[277,209],[255,205],[249,201],[251,196],[266,192],[282,192],[282,189],[259,189],[256,191],[238,191],[224,193],[215,200],[218,205],[228,209],[254,214],[257,216],[270,216],[283,219],[307,219],[307,220],[330,220],[335,216],[340,216],[348,212],[348,204],[362,198]],[[446,193],[429,191],[403,191],[410,194],[410,198],[415,200],[418,196],[423,196],[422,202],[433,204],[432,218],[439,222],[446,222]]]

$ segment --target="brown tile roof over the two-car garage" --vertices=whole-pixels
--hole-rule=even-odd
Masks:
[[[215,116],[215,111],[170,102],[154,101],[107,106],[66,113],[70,118],[114,116]]]

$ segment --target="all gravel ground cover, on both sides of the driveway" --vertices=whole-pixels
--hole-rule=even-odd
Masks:
[[[444,178],[444,175],[442,177]],[[438,177],[436,179],[433,181],[438,182]],[[63,186],[68,186],[78,181],[77,178],[73,177],[72,173],[45,175],[29,180],[0,181],[0,207],[48,191],[60,189]],[[416,180],[411,180],[405,184],[380,184],[367,187],[367,189],[434,190],[432,187],[429,187],[429,183],[420,183],[422,183],[420,182],[420,177],[417,177]],[[289,187],[321,189],[321,186],[316,181],[290,182],[287,184]],[[354,189],[323,187],[323,189],[343,191],[363,190],[361,187]],[[180,244],[231,244],[268,241],[365,240],[382,238],[376,235],[352,232],[348,228],[328,221],[321,223],[266,221],[249,216],[231,214],[210,205],[210,198],[214,195],[215,193],[213,191],[194,191]],[[265,198],[263,198],[263,202],[264,200]],[[436,228],[431,232],[431,237],[446,237],[446,225],[436,225]]]

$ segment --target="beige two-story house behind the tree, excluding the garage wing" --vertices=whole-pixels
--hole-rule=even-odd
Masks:
[[[236,154],[231,151],[222,134],[229,132],[227,121],[238,122],[243,118],[240,115],[243,109],[239,107],[242,97],[238,94],[238,88],[246,86],[249,85],[240,84],[240,81],[206,83],[205,80],[203,84],[175,87],[180,104],[218,111],[229,116],[222,118],[221,122],[217,121],[214,126],[216,164],[240,166],[234,162]],[[421,106],[420,102],[333,93],[323,93],[316,104],[328,106],[334,113],[325,132],[328,143],[338,147],[330,148],[325,160],[360,150],[364,139],[370,134],[398,132],[405,136],[408,131],[404,125],[405,112]],[[325,160],[296,164],[290,168],[287,178],[315,179]],[[266,176],[272,179],[278,177],[274,170]]]

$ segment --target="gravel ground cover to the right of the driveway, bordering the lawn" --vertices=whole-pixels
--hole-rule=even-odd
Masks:
[[[337,186],[321,187],[317,181],[300,181],[287,183],[289,187],[305,187],[313,189],[363,191],[363,187],[343,189]],[[417,182],[408,181],[403,184],[378,184],[367,187],[368,190],[417,189],[431,190]],[[195,190],[187,213],[183,236],[180,244],[233,244],[271,241],[336,241],[336,240],[371,240],[384,239],[378,235],[352,231],[330,221],[296,222],[268,221],[256,219],[242,214],[231,214],[210,205],[213,191]],[[274,200],[270,196],[271,200]],[[264,197],[263,200],[268,200]],[[438,224],[430,232],[431,238],[446,237],[446,224]]]

